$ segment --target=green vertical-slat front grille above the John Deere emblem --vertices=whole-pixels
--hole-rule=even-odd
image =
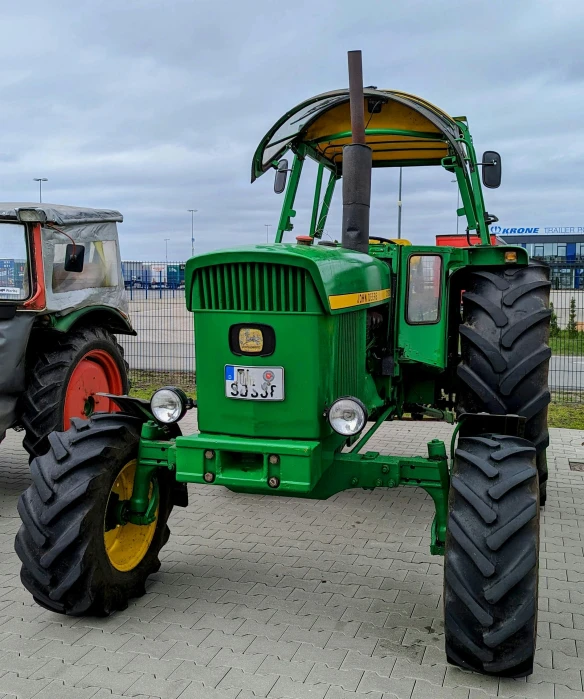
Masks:
[[[264,262],[230,262],[196,270],[193,308],[205,311],[306,312],[306,270]]]

